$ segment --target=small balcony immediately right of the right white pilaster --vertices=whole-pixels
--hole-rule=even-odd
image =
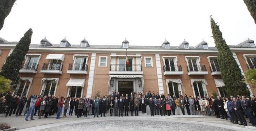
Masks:
[[[182,66],[181,65],[164,65],[164,75],[182,75]]]

